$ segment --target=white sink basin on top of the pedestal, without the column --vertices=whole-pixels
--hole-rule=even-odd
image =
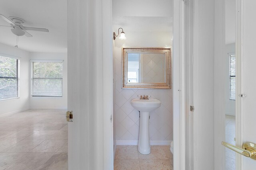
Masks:
[[[149,98],[148,100],[133,99],[132,106],[141,112],[150,112],[161,106],[161,102],[157,99]]]

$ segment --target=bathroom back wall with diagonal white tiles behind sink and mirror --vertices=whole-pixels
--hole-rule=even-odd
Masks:
[[[172,140],[172,89],[122,89],[122,47],[171,47],[171,32],[126,31],[126,40],[115,40],[115,99],[117,145],[138,145],[140,118],[130,101],[150,95],[162,102],[150,112],[151,145],[168,145]]]

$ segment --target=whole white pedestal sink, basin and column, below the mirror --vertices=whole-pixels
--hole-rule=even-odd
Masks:
[[[131,101],[131,104],[135,109],[140,111],[138,151],[141,154],[150,154],[151,150],[148,130],[149,112],[160,107],[161,102],[153,98],[149,98],[148,100],[136,98]]]

